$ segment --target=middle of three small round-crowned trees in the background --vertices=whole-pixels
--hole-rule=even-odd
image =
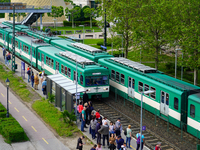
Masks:
[[[74,18],[80,17],[81,8],[79,6],[74,6],[73,9],[69,9],[66,7],[65,16],[71,16],[72,18],[72,28],[74,28]]]

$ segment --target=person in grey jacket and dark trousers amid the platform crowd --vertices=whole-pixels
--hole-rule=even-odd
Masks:
[[[101,126],[101,128],[98,130],[100,134],[103,134],[103,147],[105,148],[105,139],[107,139],[107,146],[109,146],[109,126],[107,122],[104,122],[104,124]]]

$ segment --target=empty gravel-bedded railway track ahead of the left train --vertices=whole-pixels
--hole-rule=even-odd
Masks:
[[[136,105],[134,107],[132,102],[127,100],[125,102],[124,99],[120,97],[115,101],[114,96],[112,94],[110,95],[109,98],[102,101],[93,101],[94,108],[100,109],[100,113],[112,122],[115,122],[117,118],[121,118],[123,128],[126,128],[130,124],[133,132],[132,135],[135,137],[140,129],[140,107]],[[153,150],[159,141],[162,142],[162,150],[196,149],[198,141],[196,141],[195,137],[187,132],[181,133],[179,128],[167,124],[167,122],[161,118],[155,120],[155,115],[148,111],[143,110],[143,113],[145,116],[145,118],[143,118],[143,125],[147,127],[146,131],[143,131],[143,134],[147,147]]]

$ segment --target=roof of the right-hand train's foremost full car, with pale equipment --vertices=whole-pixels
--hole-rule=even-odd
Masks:
[[[165,75],[164,73],[156,70],[155,68],[145,66],[143,64],[128,60],[126,58],[114,57],[114,58],[110,58],[110,59],[101,59],[101,60],[110,62],[112,64],[116,64],[119,67],[123,66],[123,68],[126,68],[130,71],[133,71],[135,73],[138,73],[140,75],[148,77],[152,80],[158,81],[160,83],[171,86],[173,88],[179,89],[181,91],[200,89],[200,87],[198,87],[198,86],[195,86],[195,85],[192,85],[190,83],[181,81],[179,79],[175,79],[173,77]]]

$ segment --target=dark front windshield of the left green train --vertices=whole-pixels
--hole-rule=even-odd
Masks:
[[[108,85],[108,76],[87,76],[85,83],[86,86]]]

